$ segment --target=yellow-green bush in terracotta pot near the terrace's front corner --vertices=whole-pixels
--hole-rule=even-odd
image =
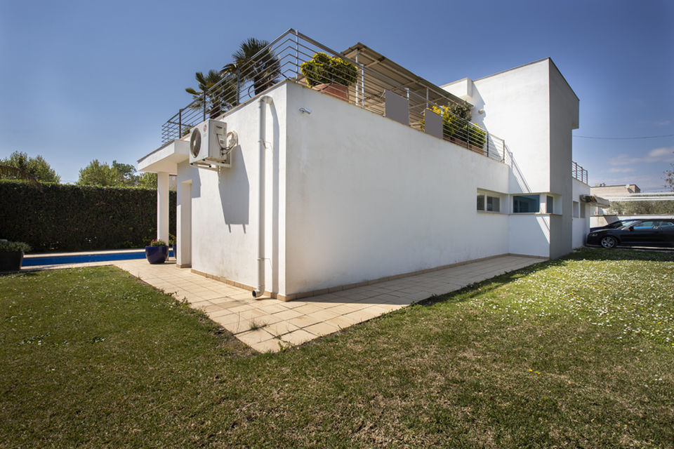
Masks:
[[[322,52],[303,62],[300,70],[310,88],[345,101],[349,100],[349,86],[358,77],[355,65],[342,58],[331,58]]]

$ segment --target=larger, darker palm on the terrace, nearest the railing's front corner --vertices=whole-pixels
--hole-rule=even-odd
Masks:
[[[254,37],[243,41],[239,50],[232,53],[234,62],[225,65],[220,74],[239,76],[242,81],[253,81],[255,95],[274,86],[281,74],[279,59],[269,47],[269,42]]]

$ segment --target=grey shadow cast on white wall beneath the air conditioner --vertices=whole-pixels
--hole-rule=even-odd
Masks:
[[[250,221],[251,186],[241,145],[232,149],[232,153],[232,166],[218,173],[220,203],[227,230],[232,232],[232,225],[242,225],[245,234]]]

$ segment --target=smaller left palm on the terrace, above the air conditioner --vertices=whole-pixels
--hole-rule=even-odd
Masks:
[[[206,93],[206,109],[208,109],[211,119],[215,119],[223,111],[238,104],[237,81],[231,74],[209,70],[206,75],[197,72],[194,74],[194,78],[199,83],[199,91],[188,87],[185,92],[192,94],[194,98],[192,107],[195,109],[204,107],[204,93]]]

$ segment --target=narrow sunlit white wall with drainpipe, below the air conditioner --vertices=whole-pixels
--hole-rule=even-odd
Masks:
[[[267,92],[265,159],[265,287],[284,290],[286,84]],[[258,241],[258,102],[228,112],[227,131],[239,135],[231,168],[220,172],[178,166],[178,186],[192,180],[192,269],[255,286]],[[180,187],[178,187],[180,189]],[[178,192],[178,198],[181,198]],[[182,248],[182,245],[180,245]],[[273,268],[273,269],[272,269]]]

